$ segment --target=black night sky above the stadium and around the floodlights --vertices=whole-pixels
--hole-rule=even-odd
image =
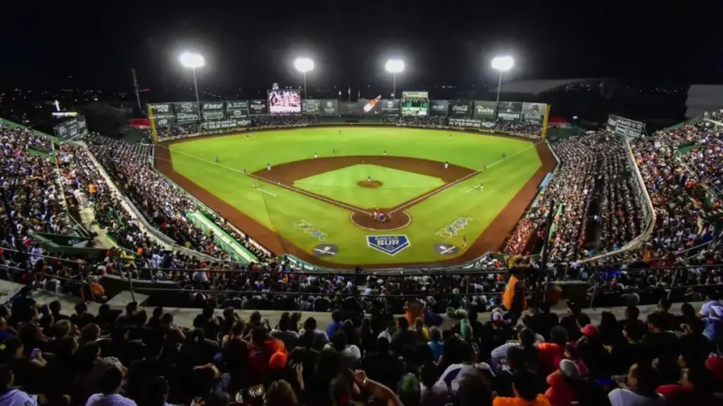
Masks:
[[[496,53],[515,56],[510,79],[716,83],[720,3],[10,1],[0,85],[127,90],[134,67],[141,87],[175,87],[191,80],[177,62],[187,49],[205,56],[199,85],[208,89],[298,84],[296,56],[316,61],[309,85],[388,81],[390,56],[406,61],[401,87],[474,85],[495,79],[488,66]]]

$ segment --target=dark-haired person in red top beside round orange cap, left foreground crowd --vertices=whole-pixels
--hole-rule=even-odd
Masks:
[[[251,333],[249,345],[250,384],[265,384],[271,372],[286,367],[288,351],[281,340],[268,335],[263,327],[256,327]]]

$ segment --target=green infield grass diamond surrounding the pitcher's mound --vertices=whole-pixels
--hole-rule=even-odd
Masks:
[[[379,189],[359,187],[367,178],[380,181]],[[440,178],[378,165],[352,165],[294,182],[294,186],[362,209],[395,207],[444,185]]]

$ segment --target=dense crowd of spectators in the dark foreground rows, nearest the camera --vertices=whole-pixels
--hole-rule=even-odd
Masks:
[[[161,307],[66,314],[28,291],[0,306],[4,405],[723,405],[715,300],[595,322],[570,303],[519,325],[495,308],[446,327],[416,301],[398,319],[335,308],[327,325],[287,312],[273,328],[205,308],[187,328]]]

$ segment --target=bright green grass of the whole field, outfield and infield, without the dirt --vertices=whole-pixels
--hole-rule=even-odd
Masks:
[[[459,246],[463,236],[474,241],[542,165],[534,144],[525,140],[461,132],[452,133],[450,139],[448,131],[398,127],[341,127],[341,134],[339,129],[315,127],[264,131],[249,134],[249,137],[238,134],[197,139],[172,145],[171,156],[174,170],[181,175],[309,252],[321,243],[321,239],[312,236],[308,227],[302,229],[298,225],[301,221],[312,225],[323,233],[323,241],[340,248],[336,256],[325,260],[340,264],[448,259],[450,257],[437,254],[435,243]],[[260,186],[262,191],[253,189],[251,178],[242,174],[244,168],[254,172],[267,164],[309,159],[315,152],[330,156],[333,149],[336,155],[382,155],[386,151],[389,156],[418,157],[440,163],[448,161],[473,170],[482,169],[484,165],[488,168],[409,208],[406,211],[412,217],[411,224],[388,233],[357,228],[349,220],[349,210],[281,186],[264,183]],[[501,160],[503,153],[508,159]],[[216,156],[220,160],[218,165],[214,163]],[[401,187],[361,189],[356,186],[357,181],[370,176],[369,171],[374,171],[372,178],[382,181],[385,186],[398,184]],[[482,182],[484,191],[473,189]],[[354,165],[296,183],[301,189],[364,207],[367,204],[382,206],[377,203],[382,201],[394,206],[393,202],[424,194],[442,181],[375,165]],[[396,196],[398,194],[404,196]],[[463,228],[455,234],[440,233],[459,218],[466,219],[459,223],[465,224]],[[406,235],[411,246],[395,256],[367,247],[367,236],[385,234]]]

